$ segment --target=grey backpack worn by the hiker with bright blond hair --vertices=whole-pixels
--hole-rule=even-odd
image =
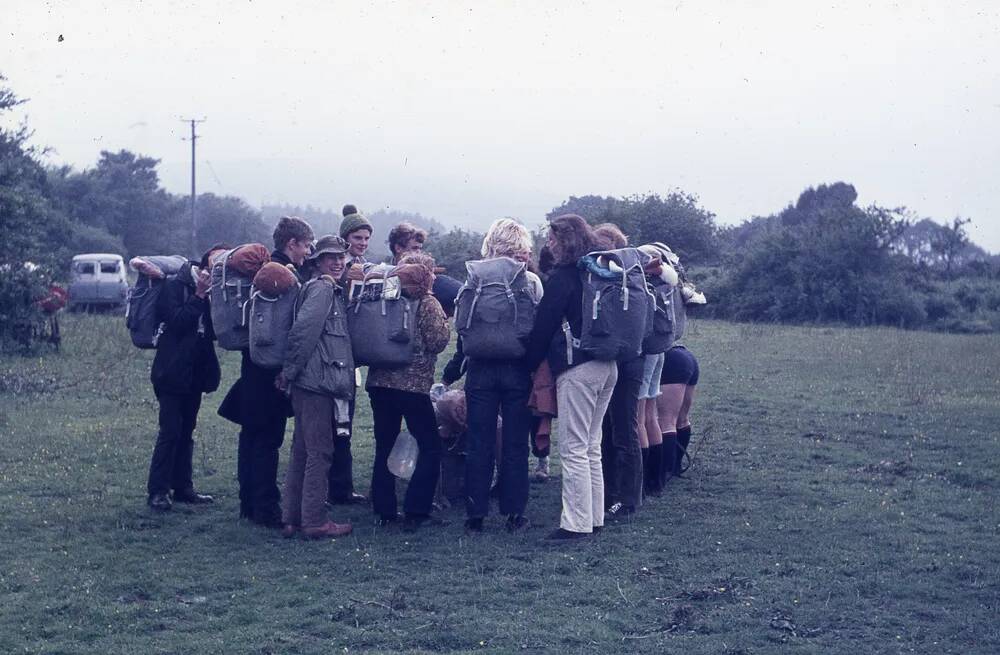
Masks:
[[[455,301],[462,350],[473,359],[520,359],[535,324],[524,263],[509,257],[466,262],[468,278]]]

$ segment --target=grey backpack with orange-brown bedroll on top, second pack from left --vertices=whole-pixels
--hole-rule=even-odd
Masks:
[[[240,251],[253,253],[252,265],[243,262]],[[263,257],[259,254],[263,249]],[[219,346],[225,350],[243,350],[250,346],[248,314],[253,293],[253,276],[269,259],[267,249],[252,243],[227,250],[212,261],[212,288],[209,292],[212,307],[212,326]],[[234,263],[240,263],[239,267]],[[256,268],[254,268],[254,266]]]

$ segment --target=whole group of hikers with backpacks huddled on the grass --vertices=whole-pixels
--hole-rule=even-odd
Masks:
[[[633,515],[681,475],[690,461],[698,363],[680,339],[685,307],[704,296],[669,247],[629,247],[615,225],[591,227],[567,214],[551,219],[533,256],[530,232],[504,218],[490,226],[482,259],[466,264],[461,283],[442,274],[423,251],[426,232],[408,223],[388,235],[390,261],[369,262],[373,232],[347,205],[339,234],[319,239],[306,221],[281,218],[270,253],[259,244],[220,244],[197,262],[132,261],[160,287],[147,311],[155,334],[142,344],[156,349],[151,379],[159,401],[150,508],[213,502],[195,491],[192,454],[202,394],[221,383],[217,333],[220,346],[241,352],[240,376],[219,407],[240,426],[240,516],[288,537],[350,533],[349,523],[330,518],[331,506],[344,504],[370,503],[379,526],[441,524],[434,510],[447,482],[442,471],[447,477],[454,469],[442,462],[446,444],[453,452],[456,443],[464,454],[465,530],[484,531],[494,498],[506,529],[523,530],[530,481],[549,477],[553,424],[562,513],[550,542],[586,538],[606,519]],[[244,292],[227,275],[248,265],[254,274]],[[273,319],[282,297],[287,318]],[[242,319],[223,326],[226,305]],[[131,300],[130,313],[140,345],[141,310]],[[435,385],[449,319],[455,355]],[[278,328],[267,328],[272,320]],[[241,329],[249,336],[234,339]],[[355,488],[351,455],[364,365],[375,439],[370,498]],[[464,390],[442,390],[463,377]],[[390,459],[404,419],[418,455],[400,514]]]

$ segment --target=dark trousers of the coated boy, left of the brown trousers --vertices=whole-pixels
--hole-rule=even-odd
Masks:
[[[287,419],[275,416],[261,425],[240,430],[236,476],[240,483],[240,514],[260,522],[281,520],[278,452],[285,441]]]

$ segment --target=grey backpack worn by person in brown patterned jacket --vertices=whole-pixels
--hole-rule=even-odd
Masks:
[[[354,365],[406,366],[413,361],[420,301],[403,297],[399,278],[392,276],[391,268],[371,269],[361,284],[347,307]]]

